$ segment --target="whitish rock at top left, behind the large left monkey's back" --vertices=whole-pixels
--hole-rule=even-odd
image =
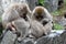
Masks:
[[[15,2],[22,2],[22,3],[28,3],[26,0],[2,0],[2,8],[3,11],[6,11],[6,9],[11,4],[11,3],[15,3]]]

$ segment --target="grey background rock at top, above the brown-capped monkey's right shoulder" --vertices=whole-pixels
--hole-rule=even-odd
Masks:
[[[53,12],[58,8],[58,0],[44,0],[44,7],[50,11]]]

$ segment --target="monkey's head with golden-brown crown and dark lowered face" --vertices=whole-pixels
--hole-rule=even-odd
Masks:
[[[33,10],[33,15],[35,20],[41,21],[44,18],[44,8],[43,7],[36,7]]]

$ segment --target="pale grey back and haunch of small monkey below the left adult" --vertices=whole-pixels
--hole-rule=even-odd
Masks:
[[[13,32],[15,32],[19,35],[18,40],[22,41],[30,31],[30,23],[26,22],[24,19],[18,19],[18,20],[12,21],[12,24],[15,31],[20,33],[18,34],[13,29]]]

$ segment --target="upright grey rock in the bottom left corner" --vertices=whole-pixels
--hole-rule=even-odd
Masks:
[[[1,44],[13,44],[15,38],[16,38],[16,35],[13,34],[11,31],[8,31],[4,34],[4,36],[3,36],[2,41],[1,41]]]

